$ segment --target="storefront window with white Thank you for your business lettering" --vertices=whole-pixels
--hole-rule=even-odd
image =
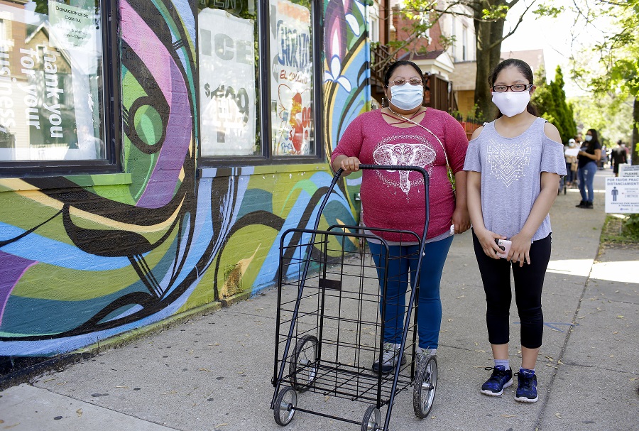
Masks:
[[[0,2],[0,161],[104,160],[99,0]]]

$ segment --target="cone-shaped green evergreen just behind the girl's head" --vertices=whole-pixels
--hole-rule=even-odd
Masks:
[[[577,134],[577,124],[574,122],[572,107],[566,100],[562,68],[557,66],[555,80],[550,84],[546,84],[543,70],[538,78],[539,87],[532,94],[532,102],[539,109],[539,114],[557,127],[565,143]]]

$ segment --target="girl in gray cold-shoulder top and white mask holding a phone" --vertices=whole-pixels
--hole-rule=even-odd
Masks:
[[[481,393],[501,395],[513,384],[508,360],[512,268],[522,346],[515,400],[523,403],[538,399],[535,363],[544,322],[541,293],[550,261],[548,212],[557,197],[559,176],[566,175],[559,131],[538,117],[529,103],[535,91],[532,78],[530,66],[522,60],[504,60],[496,67],[490,84],[499,114],[473,133],[464,163],[469,171],[467,199],[475,255],[486,292],[488,341],[495,360]],[[507,242],[500,245],[499,240]],[[498,255],[502,251],[503,258]]]

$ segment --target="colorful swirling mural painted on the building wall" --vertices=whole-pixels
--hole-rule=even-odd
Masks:
[[[285,173],[211,168],[196,178],[194,5],[119,5],[131,183],[105,185],[108,175],[0,179],[0,356],[61,354],[271,287],[280,234],[312,226],[332,178],[325,164],[287,165]],[[330,149],[365,107],[368,72],[363,3],[324,6],[327,17],[337,13],[327,62],[340,64],[324,82],[338,99],[327,103],[328,129],[337,129],[327,131]],[[349,200],[335,190],[320,227],[354,224]]]

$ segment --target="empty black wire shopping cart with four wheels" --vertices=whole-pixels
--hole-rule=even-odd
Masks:
[[[381,240],[381,261],[376,267],[371,252],[358,247],[360,239],[377,238],[371,232],[391,231],[401,243],[418,244],[413,255],[420,268],[428,227],[427,172],[415,166],[360,165],[361,169],[409,170],[421,173],[425,186],[426,221],[420,238],[411,231],[378,229],[335,224],[318,230],[322,211],[333,195],[340,169],[334,176],[316,214],[314,229],[288,229],[280,239],[278,277],[278,312],[275,330],[275,361],[272,383],[275,387],[271,409],[278,425],[288,425],[295,412],[312,413],[324,418],[361,425],[361,430],[387,431],[395,395],[413,387],[413,410],[425,418],[435,398],[437,359],[420,355],[415,360],[417,338],[417,280],[408,286],[405,305],[398,311],[403,318],[400,352],[406,361],[397,360],[393,371],[382,373],[371,369],[373,359],[383,361],[388,277],[378,279],[378,270],[388,274],[388,243]],[[383,295],[379,283],[383,283]],[[413,305],[415,313],[413,315]],[[411,321],[411,317],[413,320]],[[324,399],[345,398],[368,403],[362,420],[335,414],[335,409],[322,409],[324,403],[302,406],[297,395],[308,391]],[[320,400],[322,398],[320,397]],[[317,407],[313,410],[314,407]],[[382,421],[382,410],[386,418]]]

